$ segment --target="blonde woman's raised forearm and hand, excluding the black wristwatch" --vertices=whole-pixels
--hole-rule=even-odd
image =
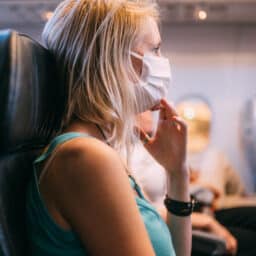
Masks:
[[[189,171],[186,165],[187,126],[166,100],[161,100],[159,108],[155,136],[149,139],[141,130],[142,141],[147,141],[145,148],[167,172],[168,196],[188,202],[190,198]],[[177,217],[168,213],[167,219],[177,256],[191,255],[190,217]]]

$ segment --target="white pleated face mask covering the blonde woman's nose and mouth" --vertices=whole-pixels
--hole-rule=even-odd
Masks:
[[[171,67],[167,58],[146,53],[141,56],[135,52],[131,55],[143,62],[140,81],[136,84],[136,96],[139,112],[144,112],[160,103],[167,96],[171,82]]]

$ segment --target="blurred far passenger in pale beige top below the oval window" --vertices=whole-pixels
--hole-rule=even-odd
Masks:
[[[203,152],[188,154],[188,162],[194,177],[190,191],[209,188],[216,195],[217,208],[230,206],[230,199],[236,199],[233,204],[243,204],[239,199],[246,195],[245,186],[222,152],[208,146]]]

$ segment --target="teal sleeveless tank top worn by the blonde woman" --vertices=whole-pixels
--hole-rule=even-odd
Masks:
[[[79,237],[72,230],[64,230],[51,217],[40,196],[37,164],[51,155],[61,143],[77,137],[89,137],[84,133],[69,132],[55,137],[47,151],[34,161],[34,172],[27,189],[26,217],[30,253],[33,256],[87,256]],[[144,221],[156,256],[175,256],[169,229],[156,209],[145,199],[133,177],[131,186],[137,191],[136,203]],[[117,242],[118,246],[118,242]]]

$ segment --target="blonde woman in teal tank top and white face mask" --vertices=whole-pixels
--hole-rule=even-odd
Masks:
[[[158,17],[152,1],[67,0],[47,23],[43,39],[67,72],[68,104],[28,188],[33,256],[190,255],[186,125],[160,101],[170,67]],[[136,139],[135,115],[152,108],[160,109],[158,132],[141,138],[169,175],[167,225],[120,153]]]

